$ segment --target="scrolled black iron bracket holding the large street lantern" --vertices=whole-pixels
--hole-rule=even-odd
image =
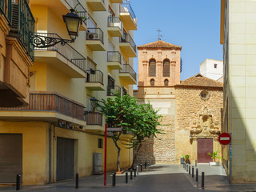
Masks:
[[[62,46],[65,46],[68,42],[74,42],[75,38],[63,39],[63,38],[52,38],[43,35],[34,34],[32,35],[32,43],[34,47],[37,48],[46,48],[54,46],[58,43],[61,43]]]

